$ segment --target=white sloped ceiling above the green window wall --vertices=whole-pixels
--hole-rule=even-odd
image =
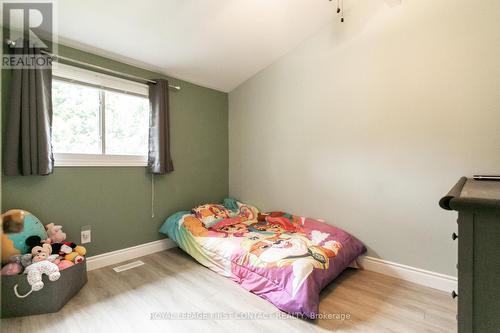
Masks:
[[[328,0],[62,0],[59,42],[231,91],[330,20]]]

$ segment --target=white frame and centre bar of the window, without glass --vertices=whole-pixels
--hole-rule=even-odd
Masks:
[[[59,63],[53,67],[53,80],[95,87],[100,90],[101,97],[103,90],[148,97],[146,84]],[[100,103],[104,103],[102,98]],[[101,117],[103,111],[101,110]],[[101,122],[104,122],[104,119],[101,119]],[[104,147],[105,138],[101,140]],[[147,153],[145,155],[111,155],[105,154],[104,149],[101,154],[54,153],[54,166],[56,167],[144,167],[147,166],[147,162]]]

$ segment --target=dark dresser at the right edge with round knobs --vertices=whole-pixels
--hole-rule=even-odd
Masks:
[[[458,332],[500,332],[500,182],[463,177],[439,204],[458,212]]]

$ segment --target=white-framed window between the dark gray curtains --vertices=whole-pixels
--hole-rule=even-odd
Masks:
[[[146,85],[61,64],[53,75],[56,166],[146,165]]]

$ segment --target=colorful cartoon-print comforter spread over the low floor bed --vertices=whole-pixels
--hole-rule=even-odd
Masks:
[[[282,212],[233,216],[205,227],[189,211],[160,229],[202,265],[287,313],[315,318],[319,293],[365,246],[327,223]]]

